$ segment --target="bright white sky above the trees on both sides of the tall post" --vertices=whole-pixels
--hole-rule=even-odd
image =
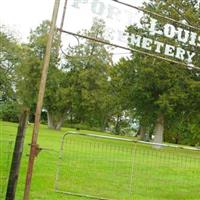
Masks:
[[[144,0],[121,1],[140,6]],[[63,3],[64,0],[61,0],[58,26]],[[26,42],[31,29],[35,29],[42,20],[51,19],[53,5],[54,0],[0,0],[0,24]],[[94,17],[104,19],[108,29],[118,32],[115,37],[120,39],[119,30],[123,30],[130,20],[138,20],[138,13],[111,0],[68,0],[64,29],[76,32],[89,28]]]

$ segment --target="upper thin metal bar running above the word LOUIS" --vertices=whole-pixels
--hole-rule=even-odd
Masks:
[[[166,20],[175,22],[175,23],[180,24],[180,25],[182,25],[182,26],[187,26],[187,27],[190,27],[190,28],[192,28],[192,29],[196,29],[196,30],[200,31],[200,28],[198,28],[198,27],[192,26],[192,25],[190,25],[190,24],[184,24],[184,23],[182,23],[182,22],[180,22],[180,21],[177,21],[177,20],[175,20],[175,19],[173,19],[173,18],[171,18],[171,17],[167,17],[167,16],[161,15],[161,14],[159,14],[159,13],[152,12],[152,11],[149,11],[149,10],[146,10],[146,9],[144,9],[144,8],[137,7],[137,6],[133,6],[133,5],[131,5],[131,4],[124,3],[124,2],[121,2],[121,1],[118,1],[118,0],[111,0],[111,1],[114,1],[115,3],[119,3],[119,4],[121,4],[121,5],[124,5],[124,6],[130,7],[130,8],[133,8],[133,9],[136,9],[136,10],[139,10],[139,11],[142,11],[142,12],[144,12],[144,13],[152,14],[152,15],[154,15],[154,16],[156,16],[156,17],[160,17],[160,18],[163,18],[163,19],[166,19]]]

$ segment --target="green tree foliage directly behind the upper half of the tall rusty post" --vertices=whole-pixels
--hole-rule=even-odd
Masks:
[[[21,65],[17,67],[17,96],[19,101],[29,108],[35,107],[37,101],[41,67],[45,54],[49,28],[49,21],[44,21],[34,31],[31,31],[29,43],[23,45]],[[55,70],[58,60],[57,38],[58,36],[56,35],[50,60],[50,68],[54,68]],[[53,74],[53,72],[51,74]]]

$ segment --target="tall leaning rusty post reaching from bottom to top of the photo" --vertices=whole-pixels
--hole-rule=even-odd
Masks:
[[[24,198],[23,198],[24,200],[29,200],[34,161],[35,161],[35,157],[37,156],[39,152],[39,145],[37,144],[37,139],[38,139],[39,126],[40,126],[40,117],[41,117],[41,111],[42,111],[42,105],[43,105],[43,99],[44,99],[44,93],[45,93],[45,87],[46,87],[46,80],[47,80],[47,73],[48,73],[49,61],[50,61],[50,53],[51,53],[54,31],[56,29],[56,21],[57,21],[59,6],[60,6],[60,0],[55,0],[52,20],[51,20],[51,27],[50,27],[50,32],[48,36],[45,57],[44,57],[42,75],[40,79],[40,88],[39,88],[38,101],[37,101],[36,112],[35,112],[35,124],[33,128],[29,163],[28,163],[28,169],[27,169],[27,174],[26,174],[26,184],[25,184],[25,189],[24,189]]]

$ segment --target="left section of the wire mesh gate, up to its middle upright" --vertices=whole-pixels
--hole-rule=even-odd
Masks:
[[[133,148],[94,135],[63,139],[56,190],[98,199],[130,199]]]

